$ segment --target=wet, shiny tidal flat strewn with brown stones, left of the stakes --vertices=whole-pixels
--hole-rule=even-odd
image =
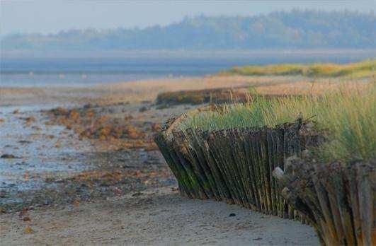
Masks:
[[[186,106],[139,112],[142,107],[152,106],[76,105],[64,108],[67,116],[56,117],[55,110],[3,107],[0,211],[106,199],[147,187],[176,185],[152,141],[158,129],[152,131],[152,127],[173,112],[180,114]],[[98,124],[101,119],[107,121]],[[132,132],[102,138],[103,125]],[[82,135],[93,127],[100,136]]]

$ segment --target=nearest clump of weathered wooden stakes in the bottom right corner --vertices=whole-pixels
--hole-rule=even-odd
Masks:
[[[290,160],[273,171],[283,197],[304,214],[323,245],[376,245],[376,161]]]

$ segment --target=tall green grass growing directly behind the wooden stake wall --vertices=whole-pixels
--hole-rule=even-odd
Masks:
[[[329,133],[329,141],[317,155],[326,160],[369,160],[376,158],[376,86],[368,90],[306,95],[299,98],[254,98],[244,105],[225,105],[217,112],[200,112],[181,123],[181,129],[204,130],[234,127],[273,127],[312,118],[318,130]]]

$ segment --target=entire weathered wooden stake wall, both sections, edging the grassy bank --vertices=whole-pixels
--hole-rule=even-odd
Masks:
[[[319,163],[312,123],[203,131],[172,119],[155,141],[181,194],[309,223],[322,245],[376,245],[376,161]]]

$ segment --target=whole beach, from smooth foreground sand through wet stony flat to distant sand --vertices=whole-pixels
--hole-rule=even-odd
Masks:
[[[169,117],[201,105],[156,105],[155,99],[191,88],[256,88],[273,95],[344,83],[362,85],[205,76],[0,88],[0,244],[318,245],[308,225],[180,197],[153,135]]]

